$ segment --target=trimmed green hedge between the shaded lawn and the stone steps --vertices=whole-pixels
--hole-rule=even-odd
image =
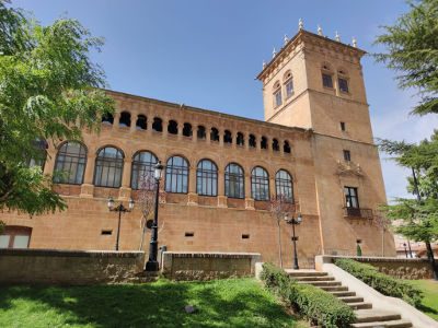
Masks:
[[[263,265],[261,274],[265,286],[287,306],[322,327],[349,327],[356,319],[353,309],[332,294],[310,284],[298,284],[284,270]]]

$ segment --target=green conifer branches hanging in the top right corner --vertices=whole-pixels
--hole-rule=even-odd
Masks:
[[[407,2],[411,11],[399,17],[376,44],[387,52],[377,54],[377,60],[397,71],[402,89],[414,87],[420,103],[414,114],[438,113],[438,0]]]

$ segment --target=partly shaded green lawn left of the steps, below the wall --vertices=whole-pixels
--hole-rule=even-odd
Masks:
[[[186,314],[184,307],[196,312]],[[300,326],[298,326],[300,325]],[[302,327],[254,279],[0,289],[0,327]]]

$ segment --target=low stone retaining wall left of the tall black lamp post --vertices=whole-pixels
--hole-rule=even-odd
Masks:
[[[130,282],[143,265],[143,251],[0,249],[0,284]]]

